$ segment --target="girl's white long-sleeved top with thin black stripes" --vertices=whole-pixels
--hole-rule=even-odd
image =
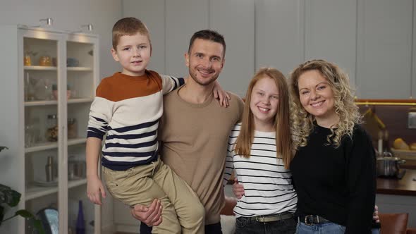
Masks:
[[[234,126],[228,140],[224,183],[235,170],[245,195],[234,208],[235,216],[259,216],[284,211],[295,212],[298,197],[292,185],[292,175],[276,157],[276,133],[255,131],[250,157],[235,154],[235,141],[241,123]]]

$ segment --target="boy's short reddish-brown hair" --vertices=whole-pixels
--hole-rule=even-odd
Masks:
[[[140,33],[147,36],[150,42],[150,34],[145,23],[134,17],[127,17],[118,20],[113,26],[113,49],[117,49],[120,37],[131,36]]]

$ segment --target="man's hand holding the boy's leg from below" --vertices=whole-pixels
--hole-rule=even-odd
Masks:
[[[136,204],[133,209],[130,210],[131,215],[145,223],[147,226],[158,226],[161,221],[161,203],[158,199],[154,199],[150,207],[145,207],[140,204]]]

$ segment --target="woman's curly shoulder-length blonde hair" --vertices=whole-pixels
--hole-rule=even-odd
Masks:
[[[292,121],[293,150],[307,145],[307,138],[312,133],[315,118],[305,111],[300,103],[298,79],[308,70],[317,70],[329,83],[334,94],[335,111],[339,123],[331,127],[331,134],[326,137],[327,144],[339,147],[345,135],[352,137],[354,125],[361,123],[360,112],[354,103],[348,75],[336,64],[324,60],[311,60],[300,64],[290,74],[290,120]]]

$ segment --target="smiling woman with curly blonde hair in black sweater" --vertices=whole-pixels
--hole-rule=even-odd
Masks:
[[[348,76],[312,60],[290,77],[298,233],[370,233],[376,173]]]

